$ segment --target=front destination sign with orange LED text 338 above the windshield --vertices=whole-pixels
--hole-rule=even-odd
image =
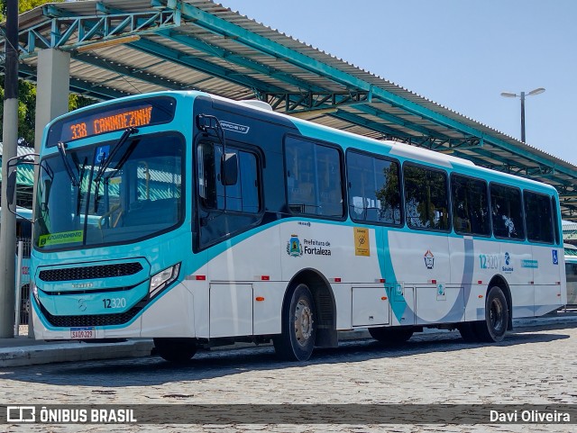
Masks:
[[[174,117],[175,105],[173,98],[157,97],[71,115],[52,125],[47,146],[55,146],[59,141],[81,140],[106,132],[170,122]]]

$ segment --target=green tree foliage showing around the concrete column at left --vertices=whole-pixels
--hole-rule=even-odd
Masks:
[[[60,3],[63,0],[19,0],[18,10],[20,14],[44,5],[46,3]],[[6,0],[0,0],[0,19],[5,21]],[[4,74],[0,78],[0,96],[4,100]],[[76,110],[90,104],[94,104],[93,99],[80,95],[69,96],[69,111]],[[0,117],[4,118],[4,104],[0,104]],[[18,81],[18,137],[23,145],[33,146],[34,144],[34,122],[36,119],[36,86],[28,81]],[[2,134],[2,122],[0,122],[0,137]]]

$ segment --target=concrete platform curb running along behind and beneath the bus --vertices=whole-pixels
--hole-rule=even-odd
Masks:
[[[513,320],[513,327],[516,329],[567,324],[577,325],[577,315],[570,314],[566,316],[545,316],[540,318]],[[425,329],[425,333],[438,332],[447,331],[442,329]],[[371,338],[367,329],[354,329],[339,333],[339,341],[361,340],[367,338]],[[14,341],[15,338],[12,338],[11,340]],[[150,356],[152,347],[154,347],[151,339],[129,340],[122,343],[79,343],[69,341],[32,344],[32,341],[29,346],[19,346],[19,344],[22,344],[22,340],[20,340],[14,341],[14,347],[1,347],[0,368],[59,362],[96,361],[100,359]],[[213,350],[230,350],[252,346],[252,344],[248,343],[238,343],[230,346],[215,347]]]

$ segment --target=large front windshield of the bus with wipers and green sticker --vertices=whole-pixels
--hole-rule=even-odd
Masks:
[[[114,153],[115,146],[119,149]],[[176,227],[183,220],[184,152],[182,136],[163,133],[131,136],[124,144],[100,142],[44,158],[35,248],[126,243]],[[112,158],[105,162],[108,155]]]

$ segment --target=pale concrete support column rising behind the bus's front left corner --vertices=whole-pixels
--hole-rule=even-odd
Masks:
[[[34,151],[36,153],[40,153],[44,127],[48,122],[69,112],[69,87],[69,53],[53,49],[41,50],[38,53],[36,123],[34,125]],[[34,168],[34,179],[38,179],[38,167]],[[34,184],[32,197],[33,215],[36,215],[36,184]],[[28,337],[33,337],[33,331],[32,320],[30,320]]]

